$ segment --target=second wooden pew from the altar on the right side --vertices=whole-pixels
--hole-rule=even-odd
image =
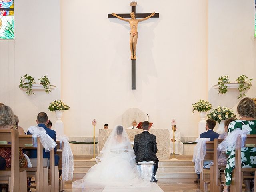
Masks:
[[[213,150],[213,166],[210,167],[210,191],[221,192],[222,188],[219,183],[219,169],[218,166],[218,144],[220,144],[224,139],[214,139],[214,150]],[[226,168],[226,166],[225,166]]]

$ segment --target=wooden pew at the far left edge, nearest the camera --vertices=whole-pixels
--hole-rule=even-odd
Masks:
[[[11,168],[0,170],[0,177],[7,179],[1,183],[7,183],[11,192],[26,192],[26,171],[20,172],[18,136],[18,130],[0,130],[0,147],[10,147],[12,153]]]

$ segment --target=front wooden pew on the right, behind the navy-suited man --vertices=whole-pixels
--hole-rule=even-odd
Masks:
[[[200,173],[200,190],[203,192],[206,192],[207,184],[209,183],[209,180],[206,180],[204,177],[206,170],[209,170],[209,169],[203,168],[203,165],[204,165],[204,161],[213,160],[213,150],[214,150],[213,141],[206,142],[206,154],[205,154],[204,160],[201,162],[202,172]]]

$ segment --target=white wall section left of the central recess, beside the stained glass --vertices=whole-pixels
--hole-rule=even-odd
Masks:
[[[0,40],[0,102],[12,107],[26,131],[36,124],[38,112],[48,112],[49,103],[60,99],[60,2],[26,0],[14,2],[15,40]],[[47,75],[57,86],[50,94],[28,96],[18,87],[24,74]]]

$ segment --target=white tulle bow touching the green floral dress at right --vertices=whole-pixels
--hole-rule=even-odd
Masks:
[[[244,146],[244,142],[246,140],[246,134],[249,133],[248,129],[240,129],[232,131],[219,145],[219,151],[233,150]],[[241,146],[236,146],[236,140],[238,136],[241,137]]]

